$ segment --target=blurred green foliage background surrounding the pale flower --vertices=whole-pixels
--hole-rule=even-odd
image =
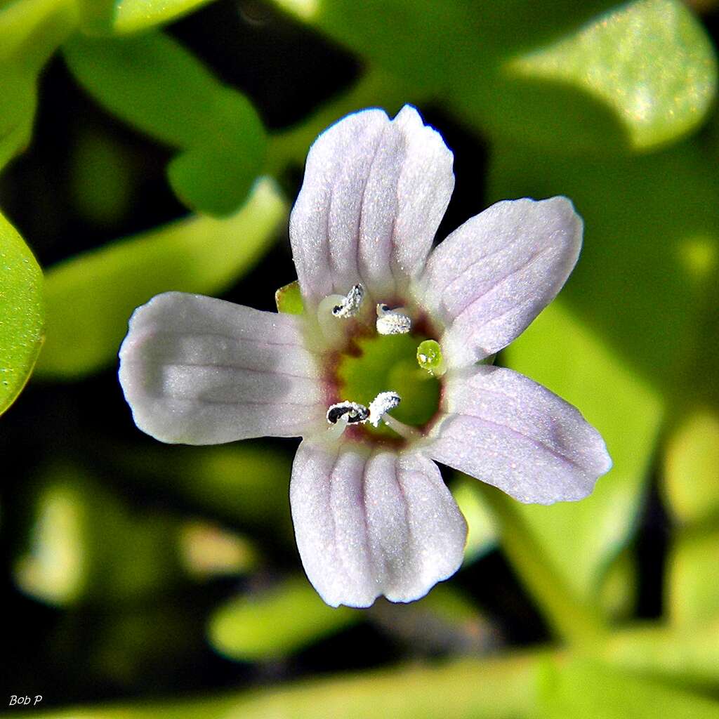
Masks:
[[[1,497],[6,582],[32,597],[15,605],[31,617],[20,612],[17,624],[22,632],[37,616],[37,631],[43,617],[52,624],[44,654],[33,656],[34,680],[36,668],[37,681],[42,672],[67,683],[78,675],[80,688],[68,689],[78,702],[109,686],[127,697],[33,715],[301,718],[318,707],[334,718],[718,715],[719,114],[709,32],[717,17],[702,22],[678,0],[247,0],[212,14],[221,5],[0,0],[4,180],[24,162],[38,87],[51,95],[43,73],[59,51],[85,106],[104,114],[73,119],[83,129],[78,142],[68,139],[66,165],[56,168],[46,145],[31,145],[30,155],[47,153],[52,174],[65,170],[68,213],[125,237],[60,238],[88,249],[60,253],[43,281],[0,217],[0,412],[38,357],[47,296],[37,362],[46,382],[31,387],[27,404],[23,395],[0,434],[12,467]],[[235,42],[240,24],[257,35]],[[188,42],[208,27],[204,47]],[[283,45],[293,32],[300,50]],[[262,33],[269,42],[258,50]],[[277,129],[262,93],[289,92],[279,78],[321,38],[336,43],[330,58],[352,52],[362,76],[325,87],[331,60],[308,64],[321,92],[300,122]],[[65,68],[48,76],[58,72]],[[299,93],[310,97],[306,85]],[[43,102],[41,92],[41,114]],[[335,119],[405,102],[457,141],[452,221],[501,198],[556,194],[584,218],[567,287],[499,361],[580,407],[614,468],[590,498],[550,507],[454,477],[470,526],[457,578],[411,605],[334,610],[297,574],[287,500],[294,446],[138,439],[101,370],[132,310],[156,293],[235,298],[262,288],[262,301],[270,298],[291,279],[287,253],[274,247],[288,210],[278,183],[292,196],[308,145]],[[46,124],[37,124],[41,135]],[[159,148],[158,162],[175,153],[167,181],[192,216],[178,218],[173,206],[147,224],[129,221],[134,132]],[[155,188],[148,203],[159,206],[160,195]],[[47,206],[36,210],[36,198],[28,194],[26,214]],[[42,260],[40,240],[24,229],[32,225],[9,214]],[[296,283],[275,301],[280,311],[302,310]],[[85,416],[98,407],[105,413]],[[515,626],[522,620],[526,636]],[[395,658],[420,661],[388,667]],[[311,677],[313,667],[336,664],[354,671]],[[215,677],[223,671],[229,679]],[[96,685],[105,688],[93,694]],[[214,693],[176,698],[190,689]]]

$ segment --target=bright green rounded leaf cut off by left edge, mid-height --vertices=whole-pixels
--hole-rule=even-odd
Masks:
[[[17,398],[44,339],[42,272],[27,244],[0,214],[0,414]]]

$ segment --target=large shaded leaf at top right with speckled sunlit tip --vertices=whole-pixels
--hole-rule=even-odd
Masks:
[[[711,42],[679,0],[275,2],[403,78],[406,101],[507,141],[644,150],[697,127],[715,95]]]

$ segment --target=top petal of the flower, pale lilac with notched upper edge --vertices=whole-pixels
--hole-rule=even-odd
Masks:
[[[306,301],[357,282],[390,301],[424,266],[453,188],[452,152],[411,106],[393,120],[363,110],[323,132],[290,216]]]

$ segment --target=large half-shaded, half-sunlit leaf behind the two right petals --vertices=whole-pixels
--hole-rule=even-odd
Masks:
[[[715,173],[693,139],[633,160],[568,159],[502,143],[489,185],[496,199],[567,195],[585,220],[567,286],[505,359],[580,408],[613,457],[590,498],[522,508],[555,564],[592,596],[602,567],[631,536],[664,406],[696,391],[690,368],[713,313]],[[697,247],[709,262],[694,261]],[[702,391],[715,371],[702,372]]]

